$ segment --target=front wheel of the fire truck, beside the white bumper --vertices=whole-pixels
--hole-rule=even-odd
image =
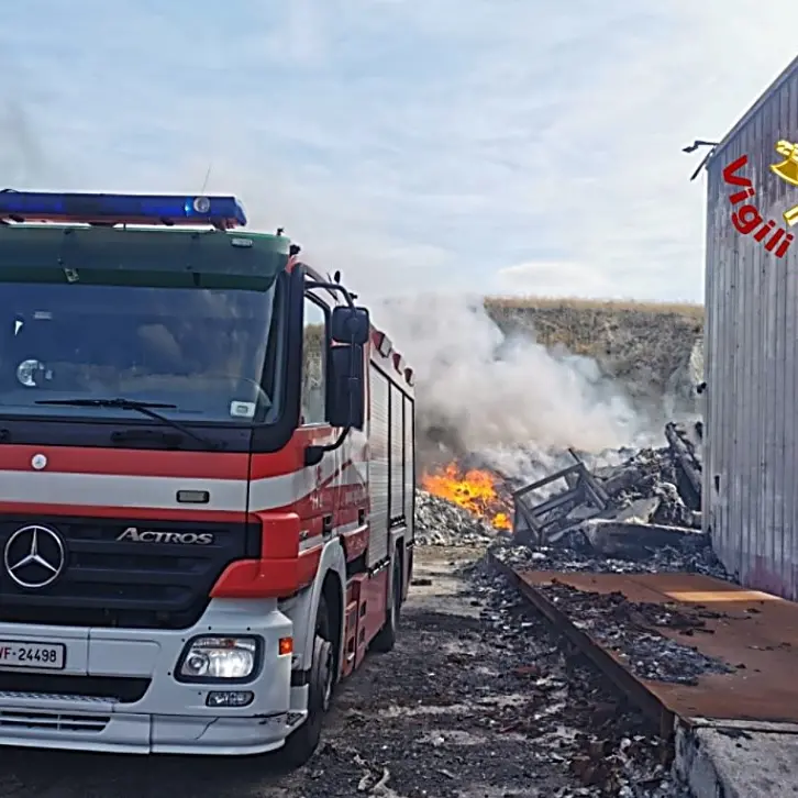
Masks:
[[[308,685],[308,718],[304,723],[290,733],[282,749],[285,760],[291,767],[301,767],[313,755],[321,740],[324,714],[330,709],[330,700],[335,678],[333,644],[326,639],[328,614],[324,598],[319,602],[313,640],[313,661],[310,666]]]

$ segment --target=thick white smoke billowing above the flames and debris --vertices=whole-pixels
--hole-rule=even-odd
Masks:
[[[479,299],[424,296],[374,312],[415,372],[422,461],[478,454],[528,479],[569,447],[599,454],[650,437],[653,424],[594,361],[505,336]]]

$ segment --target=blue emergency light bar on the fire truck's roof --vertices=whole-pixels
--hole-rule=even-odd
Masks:
[[[0,220],[84,224],[201,224],[244,226],[235,197],[0,191]]]

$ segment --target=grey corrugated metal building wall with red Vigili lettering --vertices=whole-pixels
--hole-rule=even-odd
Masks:
[[[761,215],[785,226],[798,187],[774,175],[779,138],[798,141],[790,66],[712,157],[708,171],[705,529],[743,585],[798,598],[798,240],[777,258],[731,222],[725,166],[743,154]],[[741,203],[743,204],[743,203]],[[798,237],[798,226],[793,229]]]

